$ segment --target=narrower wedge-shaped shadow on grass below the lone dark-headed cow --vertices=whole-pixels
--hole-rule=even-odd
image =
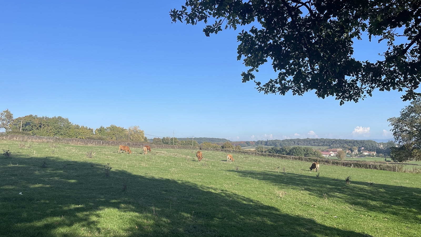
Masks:
[[[308,171],[308,170],[307,170]],[[278,173],[274,171],[231,171],[242,177],[259,177],[259,180],[267,180],[284,187],[295,187],[311,192],[312,195],[324,198],[326,194],[330,198],[343,199],[350,205],[359,206],[362,209],[378,213],[389,213],[396,216],[406,216],[415,223],[421,222],[419,198],[421,189],[393,186],[386,184],[374,184],[369,182],[352,181],[351,184],[343,180],[319,177],[315,175],[301,175],[294,173]]]

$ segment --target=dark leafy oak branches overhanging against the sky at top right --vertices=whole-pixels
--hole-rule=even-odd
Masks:
[[[314,90],[342,105],[371,96],[375,89],[405,91],[404,101],[417,96],[420,6],[420,0],[186,0],[170,16],[173,22],[204,22],[206,36],[243,28],[237,60],[249,69],[242,72],[242,82],[254,81],[258,92],[302,95]],[[355,59],[354,41],[374,37],[386,42],[378,52],[381,60]],[[262,83],[254,73],[268,61],[277,77]]]

